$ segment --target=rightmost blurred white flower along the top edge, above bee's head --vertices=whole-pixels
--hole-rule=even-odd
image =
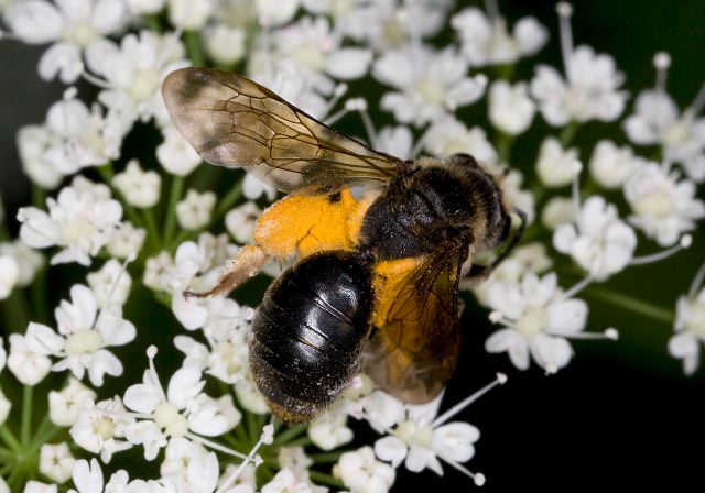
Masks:
[[[453,15],[451,25],[460,37],[463,55],[477,67],[513,64],[535,54],[549,39],[546,29],[534,18],[520,19],[510,35],[505,18],[488,19],[475,7]]]

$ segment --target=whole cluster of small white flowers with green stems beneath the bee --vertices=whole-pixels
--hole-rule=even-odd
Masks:
[[[562,67],[538,65],[520,80],[507,68],[529,63],[549,30],[506,19],[494,0],[485,10],[451,0],[0,2],[2,42],[45,46],[39,76],[66,85],[43,122],[18,132],[34,188],[14,215],[19,238],[0,208],[0,383],[22,394],[0,390],[0,491],[386,492],[402,464],[440,475],[445,464],[481,485],[464,465],[480,432],[451,419],[505,383],[501,373],[443,413],[443,394],[406,404],[359,374],[310,424],[271,417],[249,371],[261,289],[183,294],[216,285],[276,190],[199,166],[160,88],[174,69],[217,66],[326,124],[359,119],[358,138],[400,158],[475,156],[522,218],[514,229],[525,228],[511,252],[473,252],[477,264],[502,262],[480,285],[462,280],[462,295],[500,326],[487,352],[550,374],[575,357],[571,340],[617,339],[615,328],[588,330],[592,299],[640,306],[612,296],[610,278],[690,246],[705,218],[705,86],[681,110],[665,87],[671,59],[658,54],[654,87],[631,106],[612,57],[574,46],[571,6],[557,13]],[[369,87],[381,88],[377,99]],[[487,114],[465,119],[473,111]],[[392,123],[376,128],[372,112]],[[547,132],[532,147],[538,121]],[[587,122],[610,139],[585,149],[576,135]],[[533,155],[520,163],[511,150],[522,139]],[[705,343],[704,278],[705,266],[665,317],[675,333],[664,352],[686,374]],[[33,407],[39,397],[46,403]],[[350,420],[379,436],[355,441]],[[147,465],[116,469],[116,454]]]

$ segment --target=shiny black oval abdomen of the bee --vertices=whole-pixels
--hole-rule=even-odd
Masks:
[[[372,298],[371,271],[352,252],[312,255],[270,286],[252,325],[250,369],[272,412],[307,420],[347,386]]]

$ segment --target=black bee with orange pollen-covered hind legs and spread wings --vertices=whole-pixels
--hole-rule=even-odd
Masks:
[[[467,154],[404,161],[345,136],[245,77],[183,68],[164,80],[171,119],[208,163],[289,194],[259,218],[213,289],[268,259],[300,260],[258,308],[250,371],[272,413],[306,421],[359,372],[404,402],[432,401],[460,348],[458,285],[518,242],[500,182]],[[476,254],[506,244],[487,265]]]

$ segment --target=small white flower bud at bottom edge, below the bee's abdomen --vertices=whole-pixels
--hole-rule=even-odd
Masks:
[[[378,461],[371,447],[340,456],[334,469],[350,493],[383,493],[394,484],[394,468]]]

